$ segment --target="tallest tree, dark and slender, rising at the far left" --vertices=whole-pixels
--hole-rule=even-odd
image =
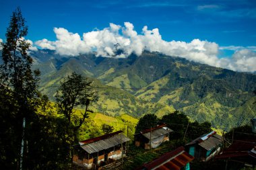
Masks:
[[[20,7],[13,11],[11,15],[11,20],[7,28],[6,42],[1,43],[2,50],[2,60],[3,65],[1,65],[1,86],[9,87],[11,95],[13,96],[13,101],[16,112],[13,112],[11,116],[11,133],[9,136],[15,136],[13,139],[14,143],[20,150],[26,149],[25,145],[22,144],[22,139],[26,138],[27,132],[24,131],[25,120],[32,118],[33,108],[30,105],[30,99],[37,95],[37,83],[38,76],[40,72],[32,71],[32,58],[28,55],[28,48],[30,44],[26,42],[24,37],[28,34],[28,27],[26,26],[26,21],[22,17],[22,12]],[[6,94],[6,93],[5,93]],[[30,119],[31,120],[31,119]],[[27,144],[28,142],[23,143]],[[18,153],[18,151],[14,151]],[[24,152],[28,153],[28,152]],[[24,157],[22,152],[18,157],[13,157],[11,165],[17,166],[17,160],[23,160]],[[22,159],[20,159],[22,157]],[[21,162],[21,161],[20,161]],[[22,164],[20,163],[20,166]]]

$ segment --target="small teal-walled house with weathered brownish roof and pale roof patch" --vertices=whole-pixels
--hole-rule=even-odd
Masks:
[[[189,155],[192,155],[196,159],[209,161],[212,157],[220,153],[222,141],[222,136],[212,131],[189,142],[185,145],[185,148]]]

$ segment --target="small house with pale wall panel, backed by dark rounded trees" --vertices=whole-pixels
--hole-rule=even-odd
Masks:
[[[168,128],[166,124],[143,130],[134,135],[135,145],[142,146],[145,149],[156,148],[162,142],[169,140],[170,132],[173,132],[173,130]]]

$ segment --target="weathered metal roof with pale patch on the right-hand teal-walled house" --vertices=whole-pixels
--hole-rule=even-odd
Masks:
[[[212,148],[218,146],[222,143],[222,136],[211,132],[210,134],[204,134],[203,136],[200,136],[199,138],[196,138],[192,142],[189,142],[187,145],[191,144],[199,144],[203,148],[205,148],[207,151],[210,151]]]

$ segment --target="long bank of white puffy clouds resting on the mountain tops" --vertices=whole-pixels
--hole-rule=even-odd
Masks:
[[[37,41],[36,45],[68,56],[95,51],[97,56],[122,58],[132,53],[139,56],[143,50],[148,50],[234,71],[256,71],[251,64],[255,63],[252,62],[255,60],[255,52],[251,50],[234,46],[219,47],[215,42],[199,39],[191,42],[168,42],[162,40],[158,28],[148,30],[148,27],[144,26],[141,34],[138,34],[129,22],[125,22],[124,26],[111,23],[108,28],[86,32],[82,37],[65,28],[54,28],[53,31],[57,37],[56,41],[43,39]],[[231,58],[218,58],[219,50],[225,49],[236,49],[236,52]]]

